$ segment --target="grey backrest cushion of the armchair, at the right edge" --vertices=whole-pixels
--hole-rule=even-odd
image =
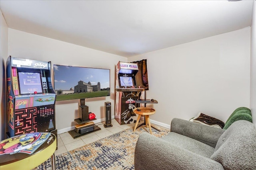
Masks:
[[[212,160],[227,170],[256,169],[256,129],[246,120],[235,121],[220,136]]]

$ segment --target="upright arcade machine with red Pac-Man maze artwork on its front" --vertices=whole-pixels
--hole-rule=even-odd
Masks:
[[[6,74],[7,137],[30,132],[51,132],[57,136],[51,62],[10,56]]]

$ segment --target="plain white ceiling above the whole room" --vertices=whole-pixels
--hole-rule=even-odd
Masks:
[[[249,27],[253,0],[0,0],[8,27],[124,57]]]

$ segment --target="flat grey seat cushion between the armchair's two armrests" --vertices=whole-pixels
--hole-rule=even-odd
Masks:
[[[168,141],[172,145],[176,145],[182,149],[189,150],[207,158],[210,158],[210,156],[212,156],[214,153],[213,147],[175,132],[168,133],[168,135],[162,137],[162,139]]]

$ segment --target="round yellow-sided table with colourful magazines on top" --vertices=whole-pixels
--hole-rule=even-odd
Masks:
[[[51,157],[55,170],[56,136],[48,132],[26,133],[0,142],[0,170],[31,170]]]

